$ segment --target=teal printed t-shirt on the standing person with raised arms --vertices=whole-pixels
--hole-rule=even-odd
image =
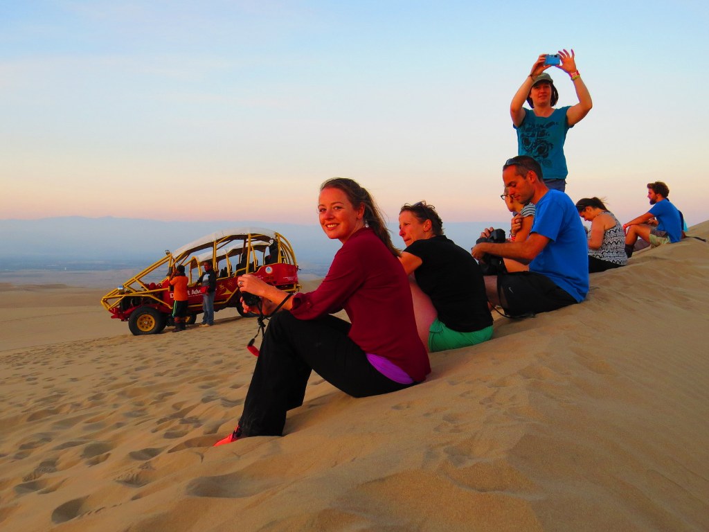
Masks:
[[[546,118],[525,110],[525,118],[517,130],[517,155],[529,155],[542,165],[544,179],[566,179],[569,170],[564,157],[564,140],[569,131],[566,111],[571,106],[554,109]],[[574,126],[571,126],[574,127]],[[578,216],[578,215],[576,215]]]

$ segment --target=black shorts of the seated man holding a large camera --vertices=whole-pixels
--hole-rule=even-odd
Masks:
[[[578,302],[552,279],[536,272],[499,275],[497,293],[502,308],[510,316],[549,312]]]

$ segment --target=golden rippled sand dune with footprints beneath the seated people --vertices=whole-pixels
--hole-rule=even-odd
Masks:
[[[0,287],[3,531],[709,529],[699,240],[593,275],[583,304],[497,319],[403,392],[313,375],[286,436],[220,448],[255,321],[135,337],[101,295]]]

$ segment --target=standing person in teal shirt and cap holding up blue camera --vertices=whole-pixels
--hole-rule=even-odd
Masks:
[[[579,103],[554,109],[559,93],[554,81],[545,70],[547,54],[539,56],[522,86],[515,93],[510,104],[510,116],[517,130],[518,155],[529,155],[535,159],[544,172],[544,182],[549,189],[566,189],[566,157],[564,141],[566,131],[584,119],[591,111],[593,101],[588,93],[579,70],[576,69],[574,50],[559,50],[559,65],[553,65],[569,74],[576,89]],[[525,109],[527,101],[532,109]]]

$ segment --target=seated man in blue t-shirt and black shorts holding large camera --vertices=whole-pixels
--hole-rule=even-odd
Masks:
[[[537,216],[527,240],[484,242],[471,250],[478,260],[496,255],[529,263],[528,272],[486,276],[489,301],[512,316],[580,303],[588,293],[588,248],[574,202],[564,192],[549,190],[539,163],[527,155],[508,159],[502,179],[515,200],[537,206]]]

